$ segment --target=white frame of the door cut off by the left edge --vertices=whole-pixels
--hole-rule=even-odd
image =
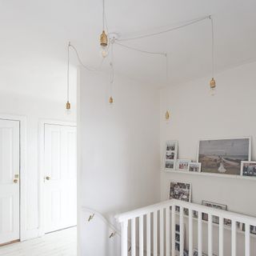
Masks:
[[[19,122],[19,240],[26,239],[26,116],[0,114],[0,119]]]

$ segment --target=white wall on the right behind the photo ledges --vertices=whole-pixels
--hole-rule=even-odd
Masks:
[[[196,160],[200,138],[252,136],[252,159],[256,159],[256,63],[238,66],[216,75],[216,95],[209,94],[210,78],[171,86],[162,90],[161,151],[162,170],[164,143],[178,140],[179,158]],[[170,122],[166,125],[166,94]],[[256,215],[254,180],[161,172],[162,200],[167,198],[168,182],[192,183],[192,202],[219,202],[228,210]],[[206,246],[206,243],[204,243]],[[239,254],[239,253],[238,253]],[[225,254],[225,255],[228,255]],[[239,254],[240,255],[240,254]],[[241,254],[242,255],[242,254]]]

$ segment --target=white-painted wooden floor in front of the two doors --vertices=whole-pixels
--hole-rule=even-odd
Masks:
[[[57,231],[25,242],[0,247],[1,256],[75,256],[77,229]]]

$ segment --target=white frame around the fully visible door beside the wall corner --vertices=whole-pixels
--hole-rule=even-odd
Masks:
[[[55,126],[76,126],[77,122],[53,120],[53,119],[40,119],[38,127],[38,235],[43,236],[45,232],[45,221],[44,221],[44,147],[45,147],[45,125]],[[78,141],[78,136],[77,136]]]

